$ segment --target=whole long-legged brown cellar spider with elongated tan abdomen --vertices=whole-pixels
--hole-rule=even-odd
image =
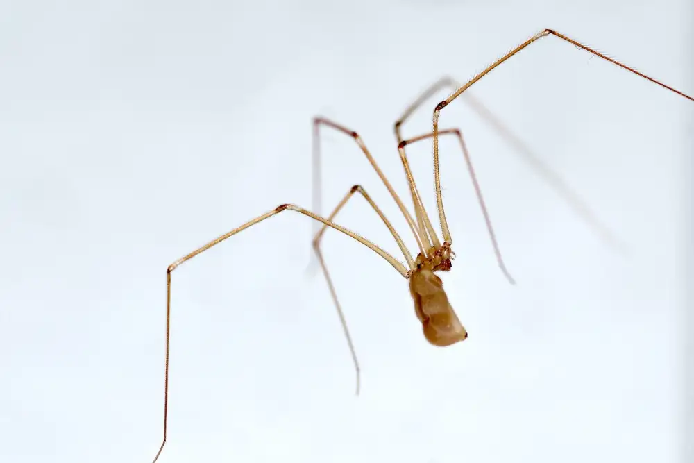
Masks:
[[[422,325],[424,337],[430,344],[441,347],[450,346],[451,344],[462,342],[464,341],[464,339],[468,337],[466,329],[464,328],[462,323],[460,323],[457,315],[455,314],[455,311],[453,310],[448,301],[448,296],[446,296],[446,292],[443,289],[443,283],[441,282],[441,278],[439,278],[439,276],[437,276],[436,274],[436,272],[438,271],[449,271],[452,267],[451,260],[455,256],[455,253],[453,253],[452,251],[453,241],[450,235],[450,230],[448,229],[446,214],[443,211],[443,199],[441,198],[441,180],[439,177],[439,135],[450,134],[457,136],[466,161],[468,174],[470,174],[471,176],[473,186],[475,187],[475,194],[477,195],[477,200],[480,203],[480,208],[482,209],[482,214],[484,215],[486,228],[489,233],[489,237],[491,239],[494,252],[496,253],[498,265],[510,283],[514,283],[514,279],[511,277],[511,274],[507,270],[505,263],[502,259],[499,246],[496,241],[496,236],[494,235],[494,231],[491,226],[491,220],[489,219],[489,213],[487,212],[486,206],[484,205],[482,191],[480,190],[480,185],[477,183],[477,179],[475,178],[475,171],[473,169],[470,155],[466,148],[462,133],[457,128],[440,130],[439,116],[443,108],[446,108],[446,106],[448,106],[453,100],[455,100],[458,96],[463,94],[463,92],[468,90],[468,88],[471,87],[474,83],[480,81],[480,79],[486,76],[486,74],[489,74],[489,72],[501,65],[502,62],[505,62],[506,60],[511,58],[511,56],[516,55],[516,53],[518,53],[519,51],[530,46],[530,44],[536,42],[536,40],[540,40],[542,37],[547,37],[548,35],[554,35],[555,37],[558,37],[561,40],[573,44],[575,47],[579,49],[588,51],[589,53],[592,53],[594,56],[598,56],[603,60],[611,62],[613,65],[617,65],[622,69],[626,69],[632,74],[636,74],[637,76],[645,78],[652,83],[655,83],[663,88],[666,88],[667,90],[670,90],[671,92],[675,92],[676,94],[679,94],[680,96],[683,96],[686,99],[694,101],[694,98],[692,96],[684,94],[679,90],[675,90],[675,88],[665,85],[664,83],[661,83],[660,81],[657,81],[654,78],[646,76],[645,74],[636,71],[632,67],[623,65],[622,63],[613,60],[612,58],[609,58],[603,55],[602,53],[598,53],[598,51],[595,51],[590,47],[586,47],[585,45],[576,42],[575,40],[570,39],[569,37],[566,37],[566,35],[562,35],[561,33],[553,31],[552,29],[545,29],[544,31],[537,33],[530,39],[518,45],[518,47],[506,53],[504,56],[502,56],[501,58],[493,62],[491,65],[489,65],[489,67],[486,67],[486,69],[484,69],[482,72],[480,72],[479,74],[471,78],[469,81],[467,81],[464,85],[459,86],[457,90],[455,90],[455,92],[448,96],[447,99],[438,103],[437,106],[434,108],[433,112],[432,133],[420,135],[409,140],[403,140],[403,137],[400,133],[400,126],[407,119],[407,117],[409,117],[409,115],[411,115],[412,112],[414,112],[414,110],[418,108],[418,106],[421,106],[425,99],[428,99],[428,97],[432,96],[434,92],[439,90],[441,87],[446,87],[449,85],[457,87],[455,81],[452,81],[452,79],[450,78],[443,78],[441,79],[441,81],[432,85],[432,87],[430,87],[426,92],[424,92],[424,94],[422,94],[418,99],[416,99],[416,101],[414,101],[414,103],[412,103],[412,105],[405,110],[402,117],[400,117],[400,119],[396,121],[394,129],[398,141],[398,152],[400,153],[400,160],[403,162],[403,167],[405,168],[405,175],[407,176],[407,183],[409,185],[409,194],[410,196],[412,196],[412,202],[414,204],[415,218],[413,218],[412,215],[409,214],[407,208],[405,208],[405,204],[400,199],[400,196],[398,196],[395,190],[393,190],[391,183],[387,180],[386,176],[383,174],[383,172],[376,164],[375,160],[371,156],[371,153],[369,153],[369,150],[366,148],[366,145],[362,141],[362,138],[359,137],[359,134],[328,119],[316,117],[316,119],[314,119],[314,187],[317,188],[317,190],[314,189],[314,208],[316,208],[316,210],[320,210],[320,196],[319,193],[316,194],[316,192],[320,191],[320,156],[318,151],[318,134],[319,126],[324,125],[334,128],[335,130],[341,133],[345,133],[350,137],[353,137],[353,139],[359,146],[359,149],[361,149],[364,155],[366,155],[366,158],[369,160],[371,167],[373,167],[373,169],[376,171],[384,185],[387,187],[387,190],[393,197],[393,200],[396,201],[398,208],[400,209],[400,212],[402,212],[403,216],[405,217],[409,229],[414,235],[414,238],[416,239],[418,253],[416,257],[414,257],[412,253],[410,253],[410,251],[405,246],[403,239],[400,238],[400,235],[398,235],[395,228],[393,228],[393,226],[391,225],[390,221],[384,216],[383,212],[381,212],[381,210],[375,204],[373,199],[371,199],[371,196],[369,196],[369,194],[366,193],[366,190],[364,190],[362,186],[354,185],[349,190],[349,192],[347,192],[344,198],[337,204],[335,209],[327,218],[321,217],[319,214],[315,214],[314,212],[310,212],[309,210],[305,210],[304,208],[301,208],[294,204],[282,204],[279,205],[277,208],[260,215],[260,217],[256,217],[255,219],[252,219],[251,221],[248,221],[245,224],[238,226],[237,228],[234,228],[230,232],[221,235],[217,239],[212,240],[212,242],[209,242],[208,244],[201,246],[195,251],[192,251],[192,253],[185,255],[183,258],[180,258],[176,260],[176,262],[174,262],[173,264],[169,265],[169,267],[167,268],[166,354],[164,360],[164,437],[162,439],[162,443],[159,447],[159,450],[154,457],[153,463],[155,463],[159,459],[159,456],[161,455],[164,449],[164,444],[166,444],[167,441],[167,420],[169,405],[169,328],[171,325],[171,273],[181,264],[194,258],[196,255],[203,253],[204,251],[207,251],[213,246],[223,242],[225,239],[232,237],[233,235],[236,235],[242,230],[246,230],[246,228],[249,228],[255,224],[259,224],[265,219],[269,219],[270,217],[273,217],[274,215],[279,214],[280,212],[291,210],[303,214],[307,217],[310,217],[311,219],[319,221],[323,224],[323,226],[320,228],[320,230],[318,231],[318,233],[316,233],[314,237],[313,246],[314,250],[316,251],[316,255],[319,258],[319,262],[323,269],[323,273],[325,274],[326,280],[328,282],[330,294],[333,298],[333,301],[335,302],[337,312],[339,314],[339,318],[342,323],[342,327],[344,328],[344,333],[350,348],[350,353],[355,364],[355,370],[357,373],[357,394],[359,394],[359,363],[357,361],[357,355],[355,353],[353,342],[350,337],[349,330],[347,328],[347,323],[345,321],[344,314],[342,312],[339,302],[337,301],[335,287],[332,285],[332,280],[328,273],[328,269],[325,266],[325,261],[323,260],[323,255],[320,249],[321,238],[323,237],[323,233],[325,233],[325,230],[328,227],[334,228],[335,230],[338,230],[341,233],[344,233],[345,235],[348,235],[349,237],[355,239],[357,242],[364,244],[364,246],[368,247],[376,254],[380,255],[380,257],[384,258],[384,260],[387,260],[387,262],[389,262],[389,264],[391,264],[393,268],[396,269],[396,271],[398,271],[398,273],[400,273],[400,275],[403,276],[403,278],[409,280],[409,292],[412,295],[412,299],[414,301],[414,310],[417,318],[419,319]],[[591,224],[591,226],[593,226],[595,230],[598,230],[605,239],[607,239],[610,242],[613,242],[613,238],[609,234],[609,231],[606,230],[606,228],[604,228],[604,226],[602,226],[592,216],[590,211],[583,205],[581,201],[579,201],[577,196],[573,194],[573,192],[568,190],[568,188],[563,183],[561,183],[561,180],[559,180],[557,176],[552,174],[551,171],[549,171],[546,167],[541,165],[539,163],[539,160],[532,158],[532,155],[530,155],[530,153],[527,152],[525,146],[523,146],[521,142],[519,142],[514,137],[514,135],[512,135],[508,131],[505,131],[504,128],[501,128],[498,124],[498,121],[494,120],[493,117],[491,117],[491,115],[489,114],[489,112],[483,106],[481,106],[479,102],[475,102],[474,100],[468,99],[468,103],[473,104],[473,108],[477,110],[477,112],[480,115],[488,119],[488,121],[491,121],[491,123],[496,126],[498,131],[500,131],[502,136],[506,137],[512,144],[514,144],[516,148],[519,149],[519,151],[521,151],[521,153],[524,153],[526,155],[526,158],[534,164],[534,167],[538,169],[541,174],[543,174],[545,179],[549,180],[552,186],[559,190],[562,196],[564,196],[564,198],[569,201],[573,208],[575,208],[575,210],[577,210],[577,212],[579,212],[579,214],[581,214],[582,217],[586,219],[586,221],[589,221],[589,224]],[[434,230],[434,227],[432,226],[429,216],[424,208],[424,205],[421,201],[421,197],[419,196],[419,192],[414,182],[414,177],[412,176],[412,171],[410,171],[409,169],[407,156],[405,155],[405,146],[421,140],[428,140],[430,138],[433,139],[434,144],[434,185],[436,190],[436,202],[437,212],[439,214],[439,224],[441,226],[441,239],[439,239],[439,237],[437,236],[437,233]],[[335,215],[339,212],[339,210],[357,192],[361,194],[364,197],[364,199],[366,199],[366,202],[369,203],[369,205],[371,205],[371,208],[376,212],[376,214],[378,214],[380,219],[383,221],[384,225],[390,231],[391,235],[393,235],[393,238],[398,243],[400,251],[402,251],[403,255],[405,256],[407,267],[405,267],[405,265],[403,265],[395,257],[393,257],[393,255],[387,253],[376,244],[373,244],[368,239],[360,235],[357,235],[356,233],[353,233],[352,231],[336,224],[333,221]]]

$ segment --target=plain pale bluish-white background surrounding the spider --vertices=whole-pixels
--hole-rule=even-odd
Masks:
[[[310,208],[314,115],[359,131],[406,193],[400,112],[542,28],[694,93],[686,3],[1,3],[0,460],[151,461],[165,269],[280,203]],[[310,219],[284,212],[246,230],[173,274],[162,463],[683,461],[693,103],[556,37],[470,92],[626,253],[456,101],[441,127],[467,137],[518,285],[496,267],[457,145],[442,141],[457,253],[443,278],[470,337],[426,344],[407,282],[328,233],[362,363],[355,398]],[[406,136],[431,130],[446,95]],[[323,133],[325,207],[360,183],[414,250],[354,142]],[[409,153],[435,215],[430,151]],[[362,199],[338,221],[400,258]]]

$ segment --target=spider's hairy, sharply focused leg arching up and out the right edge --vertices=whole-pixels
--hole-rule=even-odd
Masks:
[[[436,189],[437,189],[437,207],[439,208],[439,218],[441,219],[441,226],[444,228],[444,233],[448,231],[448,224],[446,224],[446,218],[443,217],[443,203],[441,201],[441,178],[439,175],[439,114],[441,113],[441,110],[443,108],[446,108],[450,104],[451,101],[455,100],[458,96],[460,96],[465,90],[468,90],[475,82],[479,81],[482,77],[486,76],[486,74],[489,74],[492,69],[498,67],[502,62],[505,62],[511,56],[514,56],[516,53],[519,51],[523,50],[525,47],[528,45],[532,44],[536,40],[541,39],[542,37],[546,37],[547,35],[555,35],[555,37],[559,37],[561,40],[564,40],[570,44],[573,44],[575,47],[578,47],[580,49],[584,49],[585,51],[588,51],[589,53],[593,53],[593,55],[598,56],[599,58],[602,58],[603,60],[611,62],[613,65],[617,65],[621,67],[622,69],[626,69],[629,72],[632,72],[633,74],[636,74],[637,76],[641,76],[645,78],[648,81],[651,81],[654,84],[660,85],[663,88],[666,88],[667,90],[670,90],[671,92],[675,92],[676,94],[680,96],[684,96],[684,98],[689,99],[691,101],[694,101],[694,97],[689,96],[688,94],[685,94],[683,92],[680,92],[679,90],[676,90],[675,88],[670,87],[669,85],[665,85],[664,83],[657,81],[656,79],[646,76],[645,74],[642,74],[639,71],[636,71],[636,69],[633,69],[632,67],[629,67],[627,65],[623,65],[621,62],[618,62],[617,60],[613,60],[612,58],[609,58],[608,56],[603,55],[602,53],[598,53],[598,51],[595,51],[591,49],[590,47],[586,47],[586,45],[581,44],[579,42],[576,42],[573,39],[570,39],[569,37],[566,37],[566,35],[562,35],[558,33],[557,31],[552,31],[552,29],[545,29],[544,31],[541,31],[537,33],[536,35],[530,37],[530,39],[526,40],[522,44],[518,45],[518,47],[514,48],[513,50],[509,51],[506,53],[504,56],[493,62],[489,67],[484,69],[484,71],[480,72],[473,78],[471,78],[469,81],[467,81],[462,87],[459,87],[458,90],[456,90],[453,94],[448,96],[447,99],[441,101],[437,106],[434,108],[434,115],[433,115],[433,125],[434,125],[434,183],[436,183]]]

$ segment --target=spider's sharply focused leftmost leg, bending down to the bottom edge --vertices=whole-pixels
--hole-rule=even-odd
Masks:
[[[372,242],[370,242],[368,239],[365,239],[364,237],[361,237],[357,235],[356,233],[347,230],[343,226],[339,226],[332,221],[328,219],[323,219],[323,217],[320,217],[319,215],[314,214],[313,212],[307,211],[303,208],[299,208],[298,206],[294,204],[282,204],[279,205],[277,208],[274,210],[271,210],[270,212],[266,212],[265,214],[262,214],[260,217],[256,217],[255,219],[246,222],[242,226],[239,226],[237,228],[234,228],[231,230],[229,233],[226,233],[224,235],[221,235],[219,238],[214,239],[213,241],[209,242],[208,244],[205,244],[205,246],[202,246],[192,253],[189,253],[188,255],[183,256],[183,258],[180,258],[176,260],[173,264],[169,265],[167,267],[167,328],[166,328],[166,356],[164,357],[164,437],[162,439],[162,444],[159,447],[159,451],[157,452],[157,455],[155,455],[154,460],[152,460],[152,463],[156,463],[156,461],[159,459],[159,455],[161,455],[162,451],[164,450],[164,444],[167,443],[167,423],[168,423],[168,418],[169,418],[169,339],[170,339],[170,333],[171,333],[171,272],[173,272],[177,267],[179,267],[181,264],[184,262],[191,260],[194,258],[196,255],[203,253],[207,251],[208,249],[212,248],[212,246],[216,246],[217,244],[223,242],[225,239],[228,237],[232,237],[233,235],[236,235],[242,230],[245,230],[248,227],[251,227],[255,224],[258,224],[265,219],[269,219],[273,215],[279,214],[280,212],[284,210],[294,210],[296,212],[300,212],[301,214],[304,214],[308,217],[311,217],[314,220],[323,222],[326,226],[330,226],[332,228],[335,228],[335,230],[341,231],[345,235],[348,235],[349,237],[352,237],[353,239],[356,239],[358,242],[364,244],[364,246],[369,247],[372,251],[380,255],[382,258],[387,260],[395,269],[400,272],[400,275],[403,277],[407,278],[409,276],[409,272],[407,269],[405,269],[405,266],[403,264],[400,264],[396,258],[394,258],[392,255],[387,253],[386,251],[383,251],[380,249],[380,247],[376,246]]]

